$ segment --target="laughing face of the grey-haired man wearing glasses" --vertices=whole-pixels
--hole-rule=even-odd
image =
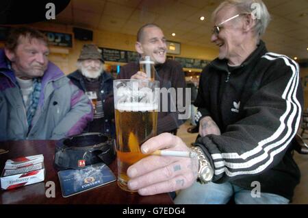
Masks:
[[[214,19],[214,25],[218,25],[227,19],[238,14],[236,10],[230,7],[222,8]],[[243,40],[241,29],[241,16],[232,19],[220,25],[219,34],[212,34],[211,42],[219,47],[219,59],[226,58],[232,64],[233,60],[241,55],[241,45]]]

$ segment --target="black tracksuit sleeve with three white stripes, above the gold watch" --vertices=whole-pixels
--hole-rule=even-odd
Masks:
[[[303,91],[298,64],[285,56],[276,59],[243,106],[244,117],[221,136],[196,141],[213,164],[214,182],[262,173],[277,165],[291,145],[300,123]]]

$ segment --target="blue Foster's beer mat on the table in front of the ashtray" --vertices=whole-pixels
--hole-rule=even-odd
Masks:
[[[69,197],[116,181],[116,176],[103,162],[83,169],[66,169],[57,173],[63,197]]]

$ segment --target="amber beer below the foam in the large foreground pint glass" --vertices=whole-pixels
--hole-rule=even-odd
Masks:
[[[116,109],[118,185],[121,189],[130,191],[127,189],[129,180],[127,169],[146,156],[140,152],[140,146],[156,135],[156,128],[157,110],[123,111]]]

